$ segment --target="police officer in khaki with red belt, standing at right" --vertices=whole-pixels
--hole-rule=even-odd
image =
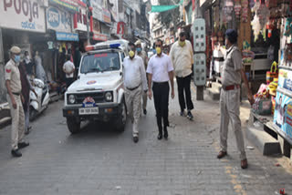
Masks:
[[[219,46],[220,50],[224,54],[224,67],[222,73],[222,90],[220,96],[220,111],[221,111],[221,123],[220,123],[220,147],[217,158],[221,159],[227,155],[227,135],[228,124],[231,121],[232,128],[235,131],[235,139],[237,143],[237,149],[240,151],[241,168],[247,168],[247,159],[245,155],[245,142],[241,129],[241,121],[239,118],[240,108],[240,85],[241,79],[244,79],[245,87],[248,91],[248,100],[252,105],[254,103],[254,97],[250,88],[248,87],[248,81],[245,76],[245,71],[242,65],[242,56],[238,47],[235,46],[237,42],[237,33],[233,29],[226,31],[225,45],[227,49]]]

